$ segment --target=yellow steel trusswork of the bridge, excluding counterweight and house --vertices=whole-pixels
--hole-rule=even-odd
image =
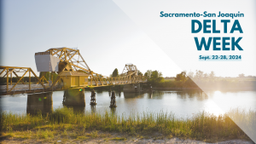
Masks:
[[[22,81],[22,78],[26,75],[26,73],[29,73],[29,82],[28,86],[25,88],[26,93],[29,91],[35,92],[35,89],[38,90],[38,86],[41,88],[39,90],[43,91],[49,91],[49,90],[58,90],[57,85],[60,85],[61,79],[60,75],[61,72],[77,72],[77,73],[85,73],[89,75],[88,78],[88,84],[87,85],[79,85],[77,87],[69,88],[69,89],[81,89],[84,87],[102,87],[102,86],[109,86],[109,85],[119,85],[119,84],[138,84],[138,83],[145,83],[147,79],[143,75],[137,75],[137,67],[132,64],[126,64],[125,69],[122,72],[122,74],[119,75],[119,77],[107,77],[102,76],[102,74],[93,72],[90,70],[90,67],[85,62],[84,58],[79,52],[79,49],[70,49],[70,48],[53,48],[48,49],[45,52],[39,52],[35,55],[52,55],[55,58],[58,58],[60,60],[59,62],[59,70],[58,70],[58,77],[55,79],[55,81],[50,85],[47,86],[42,82],[44,80],[44,76],[41,78],[38,78],[38,76],[35,74],[35,72],[32,71],[30,67],[14,67],[14,66],[0,66],[0,70],[2,69],[2,72],[0,75],[3,75],[1,78],[6,77],[6,88],[1,88],[2,91],[5,91],[1,93],[0,95],[6,95],[6,94],[14,94],[18,92],[17,89],[15,89],[15,86],[18,83],[25,84]],[[22,77],[19,77],[16,72],[24,72]],[[31,83],[31,73],[33,76],[37,79],[37,84],[32,86]],[[12,74],[15,74],[16,78],[18,78],[18,81],[13,85],[12,84]],[[46,80],[46,79],[45,79]],[[10,83],[9,83],[10,81]],[[9,89],[10,84],[10,89]],[[39,85],[38,85],[39,84]],[[60,89],[63,90],[63,89]]]

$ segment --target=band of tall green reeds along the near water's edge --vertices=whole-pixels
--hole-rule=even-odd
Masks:
[[[236,116],[246,118],[247,125],[255,124],[255,113],[253,111],[233,112]],[[207,112],[199,112],[193,118],[180,118],[172,112],[163,111],[131,112],[131,115],[128,116],[125,114],[118,116],[108,111],[74,113],[72,108],[62,107],[47,115],[42,115],[40,112],[37,115],[1,112],[0,117],[3,132],[38,130],[38,127],[61,130],[65,124],[69,124],[70,129],[115,131],[129,135],[152,135],[158,132],[163,135],[195,140],[249,139],[228,116],[228,113],[215,116]],[[255,132],[255,130],[253,131]]]

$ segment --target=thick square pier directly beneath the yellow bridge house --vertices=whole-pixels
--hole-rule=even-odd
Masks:
[[[68,89],[64,91],[63,104],[65,106],[84,106],[84,89]]]

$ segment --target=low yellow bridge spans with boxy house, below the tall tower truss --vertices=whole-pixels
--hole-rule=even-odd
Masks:
[[[18,72],[21,73],[20,76],[17,74]],[[70,75],[67,76],[67,73]],[[28,83],[25,83],[26,81],[24,82],[26,74],[29,75]],[[1,75],[3,75],[3,77]],[[31,82],[32,75],[36,78],[36,82],[38,84],[33,84]],[[86,74],[87,77],[85,77],[83,72],[70,73],[69,71],[64,71],[63,76],[61,74],[58,75],[52,85],[49,85],[44,84],[44,80],[47,81],[44,76],[38,78],[36,73],[33,72],[30,67],[16,66],[0,66],[0,76],[0,78],[3,78],[3,81],[5,81],[3,83],[4,85],[0,85],[0,95],[14,95],[20,93],[35,93],[66,89],[84,89],[86,87],[105,87],[147,82],[147,79],[143,75],[135,75],[135,73],[128,73],[122,77],[105,78],[102,75],[90,71],[90,78],[88,78],[89,74]],[[15,83],[12,81],[13,78],[16,78]]]

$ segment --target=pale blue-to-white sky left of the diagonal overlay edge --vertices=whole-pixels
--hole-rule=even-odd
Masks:
[[[126,63],[174,77],[181,70],[112,1],[3,1],[1,66],[36,70],[34,54],[78,48],[93,72],[109,76]]]

